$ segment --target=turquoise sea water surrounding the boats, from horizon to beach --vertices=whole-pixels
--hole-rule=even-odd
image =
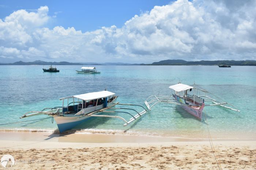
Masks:
[[[0,66],[0,130],[57,132],[46,115],[19,119],[27,111],[62,106],[59,98],[88,92],[108,91],[120,103],[140,104],[153,94],[170,95],[168,88],[179,81],[194,82],[236,106],[241,112],[220,106],[204,108],[200,121],[180,106],[155,105],[126,127],[120,119],[92,118],[75,127],[76,133],[151,135],[184,138],[256,138],[256,67],[232,66],[95,66],[101,74],[76,74],[81,66],[57,66],[58,73],[43,72],[42,66]],[[142,111],[139,107],[133,107]],[[129,118],[123,114],[125,118]],[[34,120],[41,119],[41,120]]]

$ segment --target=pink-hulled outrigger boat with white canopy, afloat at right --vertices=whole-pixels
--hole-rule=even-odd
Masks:
[[[193,86],[197,86],[197,85],[194,84]],[[240,110],[237,110],[232,104],[229,104],[225,101],[218,101],[216,99],[211,98],[209,95],[207,95],[207,93],[208,94],[211,94],[211,93],[200,88],[199,86],[192,87],[186,84],[178,83],[173,86],[170,86],[169,88],[174,90],[174,93],[172,91],[172,95],[170,96],[152,95],[148,97],[147,100],[145,101],[147,108],[151,110],[151,108],[155,104],[160,102],[177,104],[200,120],[202,119],[203,108],[205,106],[218,105],[233,111],[240,112]],[[192,92],[193,95],[188,94],[189,91],[193,91]],[[199,92],[199,95],[198,95],[198,92]],[[203,92],[204,95],[200,95],[201,94],[200,92],[201,93]],[[230,107],[228,107],[227,105],[229,105]]]

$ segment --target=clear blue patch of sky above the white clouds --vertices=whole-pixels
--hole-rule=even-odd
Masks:
[[[154,6],[162,6],[170,0],[1,0],[0,18],[10,15],[19,9],[35,11],[40,6],[48,6],[48,15],[56,16],[49,28],[61,25],[64,28],[74,27],[76,30],[93,31],[101,27],[116,25],[122,27],[125,21],[134,15],[150,11]]]

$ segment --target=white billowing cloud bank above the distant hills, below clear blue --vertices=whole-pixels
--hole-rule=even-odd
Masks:
[[[177,0],[91,32],[46,25],[47,6],[0,19],[0,62],[256,59],[256,1]]]

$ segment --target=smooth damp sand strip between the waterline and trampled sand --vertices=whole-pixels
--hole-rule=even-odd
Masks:
[[[198,139],[198,138],[182,138],[182,137],[150,137],[150,136],[136,136],[136,135],[116,135],[116,134],[81,134],[81,133],[66,133],[66,134],[55,134],[55,133],[43,133],[43,132],[3,132],[0,131],[0,144],[1,148],[11,147],[19,148],[19,146],[28,147],[34,146],[34,143],[62,143],[63,146],[72,146],[74,145],[92,145],[92,146],[133,146],[136,144],[140,145],[184,145],[185,143],[198,143],[204,145],[210,145],[209,139]],[[244,140],[244,139],[211,139],[213,143],[222,144],[222,143],[236,143],[241,145],[246,143],[249,146],[256,146],[256,140]],[[31,146],[29,146],[31,144]],[[85,145],[84,145],[85,144]],[[61,146],[57,146],[61,147]],[[26,148],[26,147],[25,147]]]

